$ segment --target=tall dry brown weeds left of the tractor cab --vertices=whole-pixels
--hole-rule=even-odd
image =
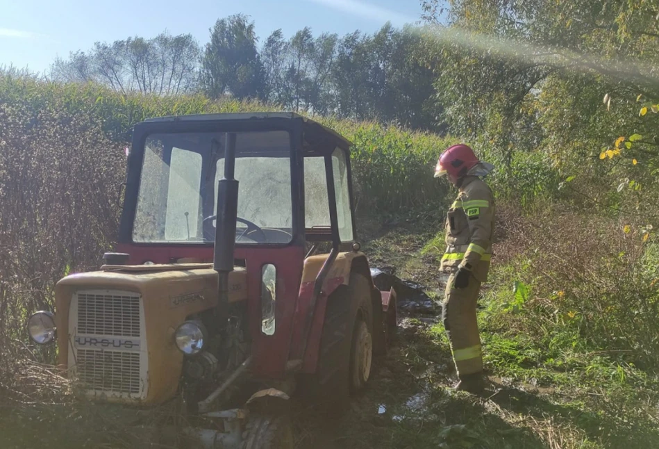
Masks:
[[[60,101],[0,103],[0,336],[51,307],[65,271],[97,266],[115,239],[124,152]]]

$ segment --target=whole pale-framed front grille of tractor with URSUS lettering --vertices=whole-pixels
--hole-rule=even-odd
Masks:
[[[147,342],[142,297],[128,291],[78,291],[69,313],[69,367],[91,394],[144,398]],[[126,344],[128,343],[128,344]],[[123,346],[122,346],[123,345]]]

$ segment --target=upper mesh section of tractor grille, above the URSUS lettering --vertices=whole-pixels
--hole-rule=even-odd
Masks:
[[[78,333],[140,336],[140,297],[78,293]]]

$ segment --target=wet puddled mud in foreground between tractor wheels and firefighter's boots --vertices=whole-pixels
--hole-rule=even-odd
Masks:
[[[560,448],[548,446],[511,416],[551,403],[551,388],[512,386],[490,376],[483,397],[453,392],[456,382],[450,352],[424,334],[433,318],[403,318],[397,343],[378,359],[365,393],[338,421],[311,409],[296,409],[297,448]],[[476,427],[474,421],[479,421]],[[467,425],[470,424],[470,425]],[[478,429],[477,431],[474,429]],[[489,433],[487,440],[481,434]]]

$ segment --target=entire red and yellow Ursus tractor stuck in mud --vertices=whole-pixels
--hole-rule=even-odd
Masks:
[[[99,407],[176,410],[158,422],[185,416],[207,448],[292,447],[292,395],[341,411],[396,327],[356,242],[349,146],[292,113],[136,124],[116,252],[61,279],[31,337]]]

